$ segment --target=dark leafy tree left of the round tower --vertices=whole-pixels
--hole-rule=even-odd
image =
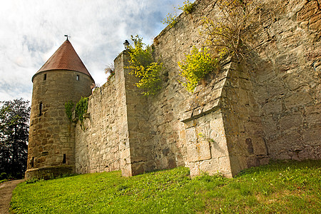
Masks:
[[[0,174],[23,178],[29,137],[29,101],[0,102]]]

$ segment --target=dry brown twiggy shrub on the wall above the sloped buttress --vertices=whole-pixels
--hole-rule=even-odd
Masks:
[[[253,12],[260,8],[259,0],[218,0],[220,12],[213,19],[203,19],[205,46],[216,52],[218,57],[235,56],[248,58],[249,49],[254,48]]]

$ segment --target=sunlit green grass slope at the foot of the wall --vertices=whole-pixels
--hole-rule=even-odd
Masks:
[[[21,183],[11,213],[320,213],[321,161],[282,161],[236,178],[188,168],[123,178],[119,171]]]

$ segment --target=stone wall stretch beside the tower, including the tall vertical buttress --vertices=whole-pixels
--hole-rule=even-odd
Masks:
[[[130,176],[153,170],[146,97],[129,74],[128,54],[115,59],[115,76],[89,97],[84,123],[76,125],[76,173],[122,170]]]

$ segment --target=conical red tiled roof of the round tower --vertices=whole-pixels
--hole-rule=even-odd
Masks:
[[[81,61],[81,58],[79,58],[68,39],[63,42],[54,55],[51,56],[46,63],[44,63],[44,66],[42,66],[39,71],[36,72],[36,74],[42,71],[51,70],[78,71],[91,77],[91,74],[88,72],[86,66]],[[32,80],[34,80],[34,77]]]

